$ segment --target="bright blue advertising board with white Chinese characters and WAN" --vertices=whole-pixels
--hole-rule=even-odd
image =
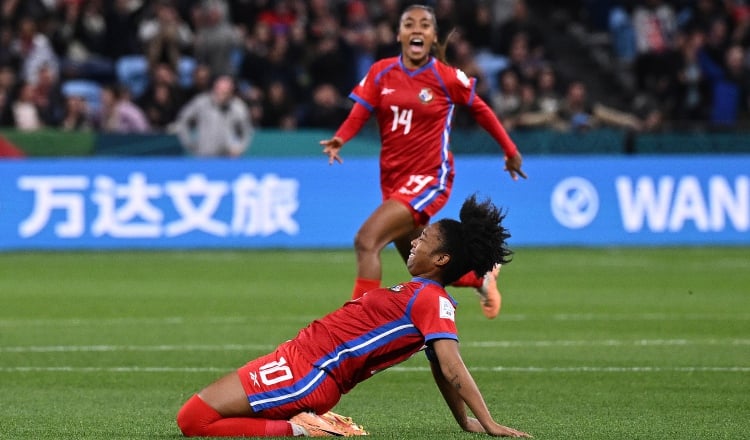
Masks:
[[[458,156],[513,245],[750,245],[750,155]],[[375,157],[0,161],[0,249],[350,247],[379,204]]]

